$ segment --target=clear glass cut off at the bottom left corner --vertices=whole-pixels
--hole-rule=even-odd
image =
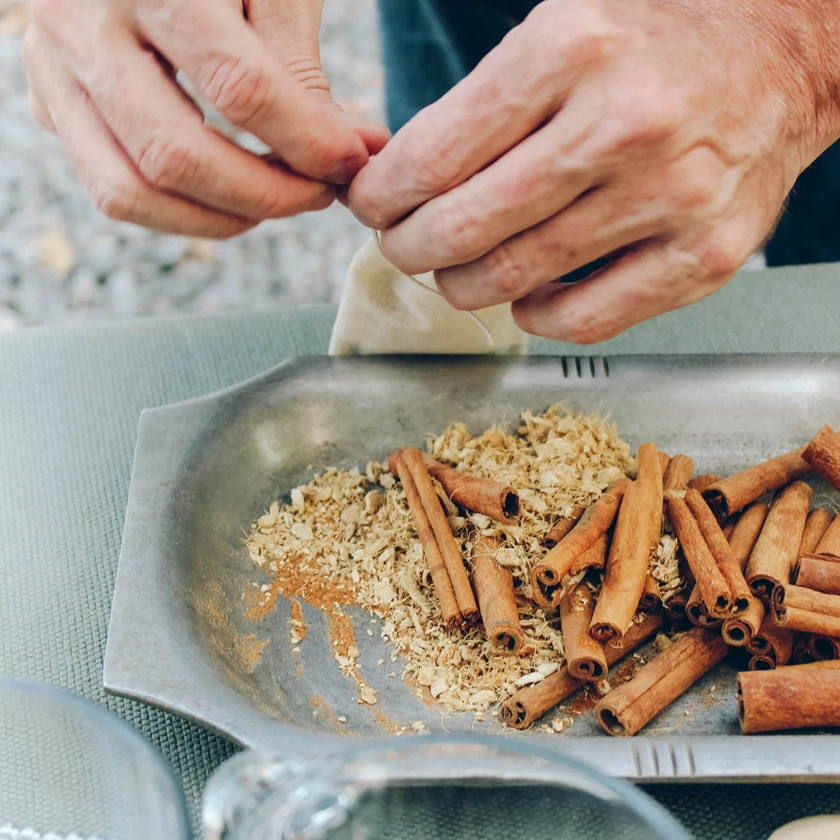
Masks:
[[[188,840],[181,788],[96,703],[0,676],[0,838]]]

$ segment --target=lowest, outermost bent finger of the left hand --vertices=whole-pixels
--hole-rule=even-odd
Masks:
[[[50,119],[73,168],[97,209],[125,222],[168,234],[224,239],[254,226],[249,219],[217,213],[207,207],[158,192],[149,186],[87,94],[69,78],[51,78]]]

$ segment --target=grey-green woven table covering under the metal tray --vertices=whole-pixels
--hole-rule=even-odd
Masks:
[[[838,352],[838,283],[840,265],[743,274],[706,301],[604,344],[535,340],[531,351]],[[126,718],[171,762],[193,819],[208,774],[234,747],[102,690],[139,412],[292,355],[324,353],[333,317],[333,307],[318,307],[0,334],[0,669],[64,686]],[[0,769],[0,784],[2,776]],[[648,790],[696,837],[759,840],[798,816],[840,812],[833,785]]]

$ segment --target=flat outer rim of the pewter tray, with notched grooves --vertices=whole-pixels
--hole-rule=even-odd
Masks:
[[[301,370],[316,372],[341,365],[375,365],[402,361],[412,365],[482,364],[482,365],[563,365],[564,377],[585,378],[580,366],[595,365],[590,360],[610,360],[610,366],[690,365],[728,367],[732,365],[774,365],[801,362],[810,365],[836,365],[840,353],[822,354],[616,354],[616,355],[529,355],[503,356],[294,356],[259,374],[223,387],[204,396],[145,409],[139,417],[129,500],[123,528],[113,602],[108,624],[102,681],[108,694],[158,706],[195,722],[246,748],[295,751],[316,756],[328,751],[346,736],[316,732],[297,724],[281,721],[254,706],[228,685],[210,667],[195,667],[191,654],[201,653],[196,640],[188,638],[185,627],[178,627],[181,637],[167,633],[160,619],[171,618],[160,601],[150,603],[134,597],[136,591],[151,586],[159,593],[162,559],[150,550],[150,522],[161,512],[168,496],[160,493],[162,481],[174,479],[177,467],[186,458],[192,444],[210,421],[221,402],[241,398],[273,381],[294,377]],[[572,367],[574,365],[574,367]],[[567,369],[577,376],[567,376]],[[606,365],[603,368],[607,371]],[[594,366],[592,370],[595,370]],[[606,375],[609,375],[607,373]],[[186,423],[185,423],[186,422]],[[186,425],[186,428],[185,428]],[[164,441],[163,446],[160,442]],[[150,465],[153,469],[150,470]],[[153,527],[153,526],[152,526]],[[155,583],[158,585],[155,586]],[[158,619],[154,621],[150,619]],[[141,636],[150,648],[138,656],[136,638]],[[151,663],[168,662],[166,674],[155,673]],[[209,663],[204,663],[209,666]],[[207,685],[215,676],[216,685]],[[213,694],[212,702],[207,695]],[[367,736],[379,738],[381,736]],[[501,737],[515,737],[514,733]],[[607,774],[638,782],[827,782],[840,779],[840,735],[797,734],[759,736],[675,736],[668,738],[557,738],[540,735],[539,743],[568,753],[593,764]],[[773,767],[768,756],[781,761]]]

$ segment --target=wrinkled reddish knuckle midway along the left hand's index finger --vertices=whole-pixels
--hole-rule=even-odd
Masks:
[[[268,110],[271,80],[261,67],[235,56],[218,56],[202,75],[199,84],[205,95],[232,122],[246,125]]]

